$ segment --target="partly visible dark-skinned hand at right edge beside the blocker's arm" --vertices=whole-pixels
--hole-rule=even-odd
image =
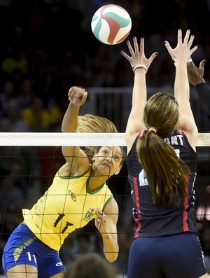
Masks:
[[[196,86],[200,83],[205,83],[205,81],[204,81],[204,64],[206,61],[207,60],[202,60],[202,62],[200,62],[199,67],[195,66],[192,59],[190,59],[190,61],[188,61],[188,64],[187,64],[188,80],[192,85]]]

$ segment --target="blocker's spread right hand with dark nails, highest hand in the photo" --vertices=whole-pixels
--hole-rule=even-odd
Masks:
[[[179,29],[177,39],[178,41],[176,48],[172,48],[168,41],[165,41],[165,46],[175,64],[179,61],[186,62],[187,64],[191,55],[195,52],[195,50],[197,50],[197,46],[194,46],[194,48],[190,49],[193,44],[194,35],[190,36],[190,30],[188,30],[186,32],[186,36],[184,37],[184,39],[182,39],[182,31],[181,29]]]

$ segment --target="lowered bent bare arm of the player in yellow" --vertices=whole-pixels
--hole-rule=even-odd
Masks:
[[[109,262],[113,262],[118,258],[118,204],[116,200],[112,199],[107,204],[104,211],[90,208],[96,214],[95,226],[102,235],[104,244],[104,256]]]

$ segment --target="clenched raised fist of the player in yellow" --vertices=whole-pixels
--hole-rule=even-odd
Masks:
[[[85,89],[73,86],[69,89],[69,101],[75,106],[82,106],[87,99],[87,92]]]

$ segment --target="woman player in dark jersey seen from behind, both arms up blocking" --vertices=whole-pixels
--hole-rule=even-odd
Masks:
[[[127,168],[132,187],[135,218],[127,278],[208,277],[193,206],[197,154],[197,126],[189,102],[187,62],[190,31],[178,43],[165,46],[176,65],[174,95],[158,92],[146,101],[146,71],[158,53],[148,59],[144,39],[140,47],[127,42],[130,56],[122,52],[134,70],[132,110],[127,122]]]

